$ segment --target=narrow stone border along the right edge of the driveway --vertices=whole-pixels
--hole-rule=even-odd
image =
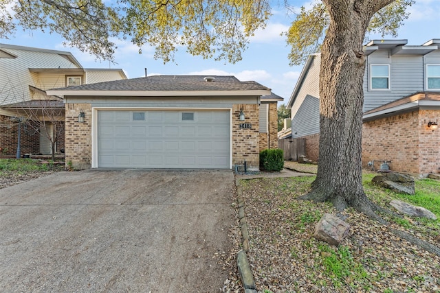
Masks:
[[[240,180],[238,178],[236,178],[235,180],[235,186],[238,195],[237,201],[239,204],[241,235],[243,236],[243,250],[240,250],[239,253],[237,253],[236,266],[239,269],[239,274],[241,282],[243,283],[243,287],[245,289],[245,293],[256,293],[254,276],[252,274],[252,271],[250,270],[248,257],[246,256],[246,253],[250,252],[249,232],[245,216],[245,200],[243,198],[243,189],[240,185]]]

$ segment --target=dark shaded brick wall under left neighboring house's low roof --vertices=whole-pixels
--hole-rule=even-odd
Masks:
[[[0,148],[3,155],[17,154],[19,124],[12,117],[0,115]],[[30,122],[32,123],[32,122]],[[30,126],[21,124],[21,154],[38,154],[40,152],[40,134]]]

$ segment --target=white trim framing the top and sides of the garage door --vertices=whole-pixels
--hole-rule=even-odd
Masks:
[[[91,167],[98,168],[98,110],[145,110],[145,111],[228,111],[229,112],[229,169],[232,169],[232,108],[181,108],[181,107],[92,107],[91,108]]]

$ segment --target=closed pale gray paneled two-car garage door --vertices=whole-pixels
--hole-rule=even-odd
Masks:
[[[230,113],[98,110],[98,167],[228,169]]]

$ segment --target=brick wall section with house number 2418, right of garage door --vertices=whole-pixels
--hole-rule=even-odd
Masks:
[[[245,113],[245,121],[239,121],[240,108]],[[239,124],[250,123],[252,129],[240,129]],[[259,144],[259,105],[232,106],[232,165],[243,165],[246,161],[248,169],[260,167]]]

